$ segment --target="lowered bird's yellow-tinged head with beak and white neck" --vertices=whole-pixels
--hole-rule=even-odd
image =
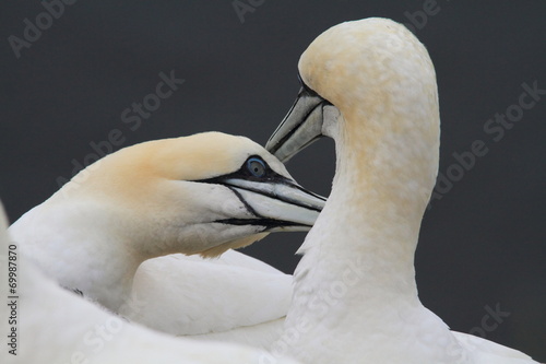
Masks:
[[[116,310],[142,261],[216,256],[271,232],[308,231],[323,204],[259,144],[206,132],[97,161],[10,233],[61,285]]]

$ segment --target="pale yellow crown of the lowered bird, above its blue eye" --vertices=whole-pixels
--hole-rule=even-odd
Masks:
[[[127,146],[87,166],[67,193],[115,193],[139,200],[161,180],[200,180],[238,171],[253,154],[274,157],[248,138],[222,132],[153,140]],[[70,195],[69,195],[70,196]]]

